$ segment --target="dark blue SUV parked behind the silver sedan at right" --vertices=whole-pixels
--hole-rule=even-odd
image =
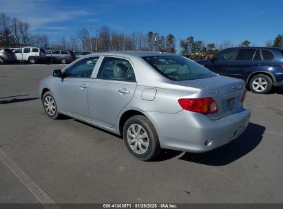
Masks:
[[[283,48],[233,47],[197,62],[217,74],[245,80],[256,94],[283,87]]]

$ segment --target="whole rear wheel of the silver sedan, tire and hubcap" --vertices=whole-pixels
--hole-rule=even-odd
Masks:
[[[147,161],[160,153],[156,129],[144,115],[135,115],[127,120],[123,139],[129,152],[138,159]]]

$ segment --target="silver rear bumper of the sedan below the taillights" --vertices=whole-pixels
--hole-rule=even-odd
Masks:
[[[176,114],[146,112],[154,123],[160,146],[179,151],[202,153],[231,142],[248,126],[251,112],[241,112],[220,120],[182,110]]]

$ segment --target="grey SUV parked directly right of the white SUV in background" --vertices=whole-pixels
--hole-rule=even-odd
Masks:
[[[71,50],[48,50],[46,53],[48,62],[67,64],[76,59],[76,55]]]

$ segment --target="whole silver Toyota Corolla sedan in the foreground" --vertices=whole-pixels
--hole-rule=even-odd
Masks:
[[[121,135],[142,160],[160,148],[206,152],[227,144],[247,128],[251,114],[243,108],[244,80],[176,54],[89,54],[40,83],[50,118],[69,115]]]

